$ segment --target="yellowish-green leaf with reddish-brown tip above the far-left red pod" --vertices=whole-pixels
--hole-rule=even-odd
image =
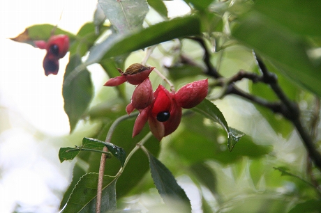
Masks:
[[[51,24],[36,24],[33,26],[29,26],[24,30],[23,33],[20,33],[15,38],[10,38],[16,42],[24,42],[33,47],[36,47],[33,43],[34,40],[45,40],[47,41],[52,35],[65,34],[69,36],[70,42],[75,39],[75,36],[72,33],[64,31],[62,29],[56,28]]]

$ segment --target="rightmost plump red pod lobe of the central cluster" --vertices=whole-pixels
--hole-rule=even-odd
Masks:
[[[174,94],[174,99],[179,107],[190,109],[200,104],[209,90],[209,82],[207,79],[200,81],[193,81],[185,86],[179,88]]]

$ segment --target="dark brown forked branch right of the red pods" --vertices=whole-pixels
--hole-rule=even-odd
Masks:
[[[205,70],[204,73],[211,77],[214,77],[214,79],[221,79],[221,74],[219,74],[217,70],[214,68],[214,66],[211,64],[211,54],[207,49],[207,45],[205,44],[203,38],[191,37],[190,39],[199,42],[200,46],[204,50],[203,61],[207,67],[207,70]],[[297,129],[297,132],[299,133],[301,140],[304,143],[306,150],[308,151],[308,155],[311,157],[315,166],[317,166],[321,171],[321,154],[315,147],[313,138],[311,134],[309,134],[308,129],[304,127],[304,125],[302,125],[301,123],[299,107],[296,103],[289,100],[287,95],[285,95],[282,88],[278,84],[276,74],[269,72],[269,70],[267,70],[267,67],[264,65],[263,61],[257,56],[256,60],[262,75],[244,72],[243,70],[241,70],[236,75],[234,75],[234,77],[232,77],[224,95],[238,95],[239,97],[242,97],[248,101],[254,102],[255,104],[259,104],[262,107],[267,107],[268,109],[271,109],[271,111],[273,111],[274,113],[280,113],[286,119],[290,120],[290,122]],[[250,79],[251,81],[253,81],[253,83],[260,81],[264,84],[269,85],[271,89],[274,90],[274,93],[278,96],[279,102],[268,102],[267,100],[264,100],[260,97],[256,97],[254,95],[251,95],[250,93],[246,93],[243,90],[237,88],[234,82],[244,78]],[[220,86],[223,86],[223,84]]]

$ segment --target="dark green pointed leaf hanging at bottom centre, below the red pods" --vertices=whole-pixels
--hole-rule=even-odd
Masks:
[[[191,202],[186,196],[185,191],[177,184],[172,173],[151,153],[147,152],[147,155],[151,168],[151,178],[153,178],[156,189],[164,202],[168,206],[172,206],[173,202],[179,201],[179,203],[184,204],[182,207],[187,208],[186,211],[191,212]]]

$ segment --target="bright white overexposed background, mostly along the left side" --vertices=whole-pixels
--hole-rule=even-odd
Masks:
[[[30,0],[0,2],[0,212],[57,212],[70,183],[73,162],[60,164],[58,152],[70,138],[61,95],[68,55],[59,60],[57,76],[45,76],[45,50],[14,42],[33,24],[58,24],[77,33],[91,22],[96,0]],[[169,2],[169,15],[188,12],[180,1]],[[93,81],[103,71],[91,65]],[[106,78],[106,77],[105,77]],[[96,88],[98,90],[99,87]],[[71,140],[73,141],[73,140]],[[72,144],[71,144],[72,145]]]

